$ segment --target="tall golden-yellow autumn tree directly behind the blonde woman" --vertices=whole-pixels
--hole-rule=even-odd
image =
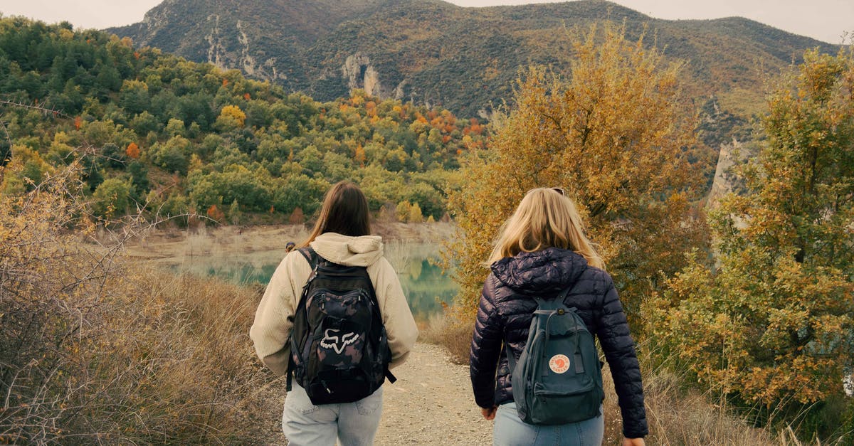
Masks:
[[[476,308],[500,225],[535,187],[560,186],[576,200],[635,323],[640,302],[703,240],[689,203],[697,178],[683,156],[696,141],[677,82],[682,64],[612,23],[573,40],[570,76],[529,68],[516,105],[495,119],[490,150],[473,152],[463,186],[450,191],[463,314]]]

